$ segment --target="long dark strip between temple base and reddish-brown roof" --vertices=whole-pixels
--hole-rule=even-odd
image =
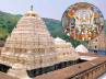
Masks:
[[[84,61],[86,61],[86,60],[78,59],[75,61],[62,61],[62,63],[59,63],[59,64],[56,64],[52,66],[37,68],[37,69],[33,69],[33,70],[27,70],[27,75],[31,78],[34,78],[34,77],[43,75],[43,74],[47,74],[47,72],[50,72],[54,70],[62,69],[62,68],[66,68],[66,67],[69,67],[69,66],[75,65],[75,64],[84,63]]]

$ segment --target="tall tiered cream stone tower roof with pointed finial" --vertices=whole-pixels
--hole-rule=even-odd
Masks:
[[[16,48],[49,48],[52,45],[54,38],[50,36],[45,22],[31,7],[31,10],[23,15],[7,38],[4,47],[16,50]]]

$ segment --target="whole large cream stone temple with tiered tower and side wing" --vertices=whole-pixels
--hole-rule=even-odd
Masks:
[[[55,43],[32,7],[7,38],[0,54],[0,68],[10,76],[30,79],[73,65],[78,59],[69,43]]]

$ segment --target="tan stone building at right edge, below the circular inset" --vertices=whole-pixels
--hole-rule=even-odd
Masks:
[[[106,35],[104,30],[97,37],[89,42],[87,48],[93,53],[106,55]]]

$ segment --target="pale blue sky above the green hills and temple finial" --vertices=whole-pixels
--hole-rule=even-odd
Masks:
[[[106,19],[106,0],[0,0],[0,11],[24,14],[33,4],[42,18],[61,20],[63,11],[75,2],[95,4]]]

